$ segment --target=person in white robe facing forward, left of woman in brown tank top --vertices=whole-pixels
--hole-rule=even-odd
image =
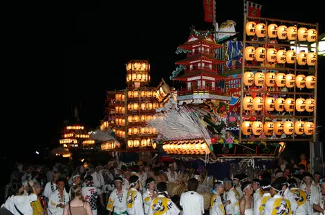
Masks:
[[[64,188],[64,180],[57,180],[57,190],[48,199],[48,214],[62,215],[64,206],[70,201],[69,194]]]

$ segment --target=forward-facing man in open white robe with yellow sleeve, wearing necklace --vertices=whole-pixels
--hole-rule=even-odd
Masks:
[[[115,178],[115,190],[111,192],[106,209],[109,215],[127,215],[127,190],[122,187],[123,178]]]

